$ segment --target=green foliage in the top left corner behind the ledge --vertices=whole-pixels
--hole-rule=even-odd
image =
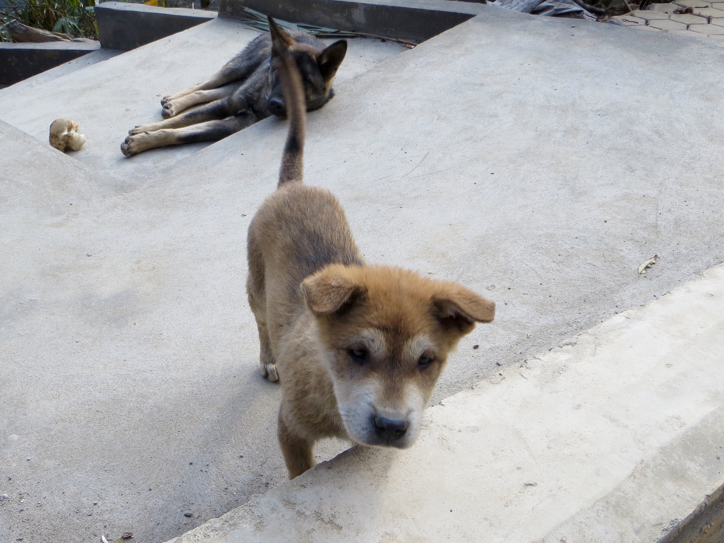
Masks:
[[[18,21],[33,28],[98,39],[96,0],[2,0],[0,5],[0,41],[12,41],[9,22]]]

